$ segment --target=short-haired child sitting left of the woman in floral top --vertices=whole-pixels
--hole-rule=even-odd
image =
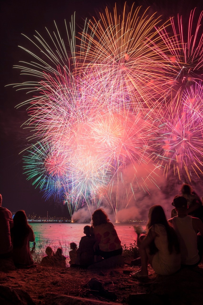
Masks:
[[[94,263],[94,244],[96,240],[90,235],[90,226],[84,227],[85,236],[81,237],[77,250],[80,266],[87,267]]]

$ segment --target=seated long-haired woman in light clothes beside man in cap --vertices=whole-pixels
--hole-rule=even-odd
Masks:
[[[180,269],[179,239],[166,220],[162,206],[152,206],[148,218],[147,235],[140,237],[141,232],[136,230],[141,268],[130,274],[134,278],[148,277],[148,262],[161,275],[173,274]]]

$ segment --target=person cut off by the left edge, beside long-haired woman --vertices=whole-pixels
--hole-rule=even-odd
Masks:
[[[0,258],[9,258],[12,255],[12,243],[10,230],[13,227],[12,214],[2,207],[2,195],[0,194]]]

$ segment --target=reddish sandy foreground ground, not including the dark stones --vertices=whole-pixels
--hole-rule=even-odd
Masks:
[[[176,274],[161,276],[149,269],[149,278],[133,279],[129,273],[138,267],[118,267],[109,270],[79,270],[37,265],[30,269],[1,272],[0,284],[27,292],[36,304],[45,305],[54,295],[78,296],[108,302],[87,286],[96,278],[105,289],[115,292],[116,303],[128,304],[129,295],[155,294],[164,304],[203,304],[203,264],[193,269],[184,268]],[[139,303],[137,303],[138,305]]]

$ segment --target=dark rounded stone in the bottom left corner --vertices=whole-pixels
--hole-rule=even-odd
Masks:
[[[13,289],[5,285],[0,285],[0,304],[36,305],[27,292],[22,289]]]

